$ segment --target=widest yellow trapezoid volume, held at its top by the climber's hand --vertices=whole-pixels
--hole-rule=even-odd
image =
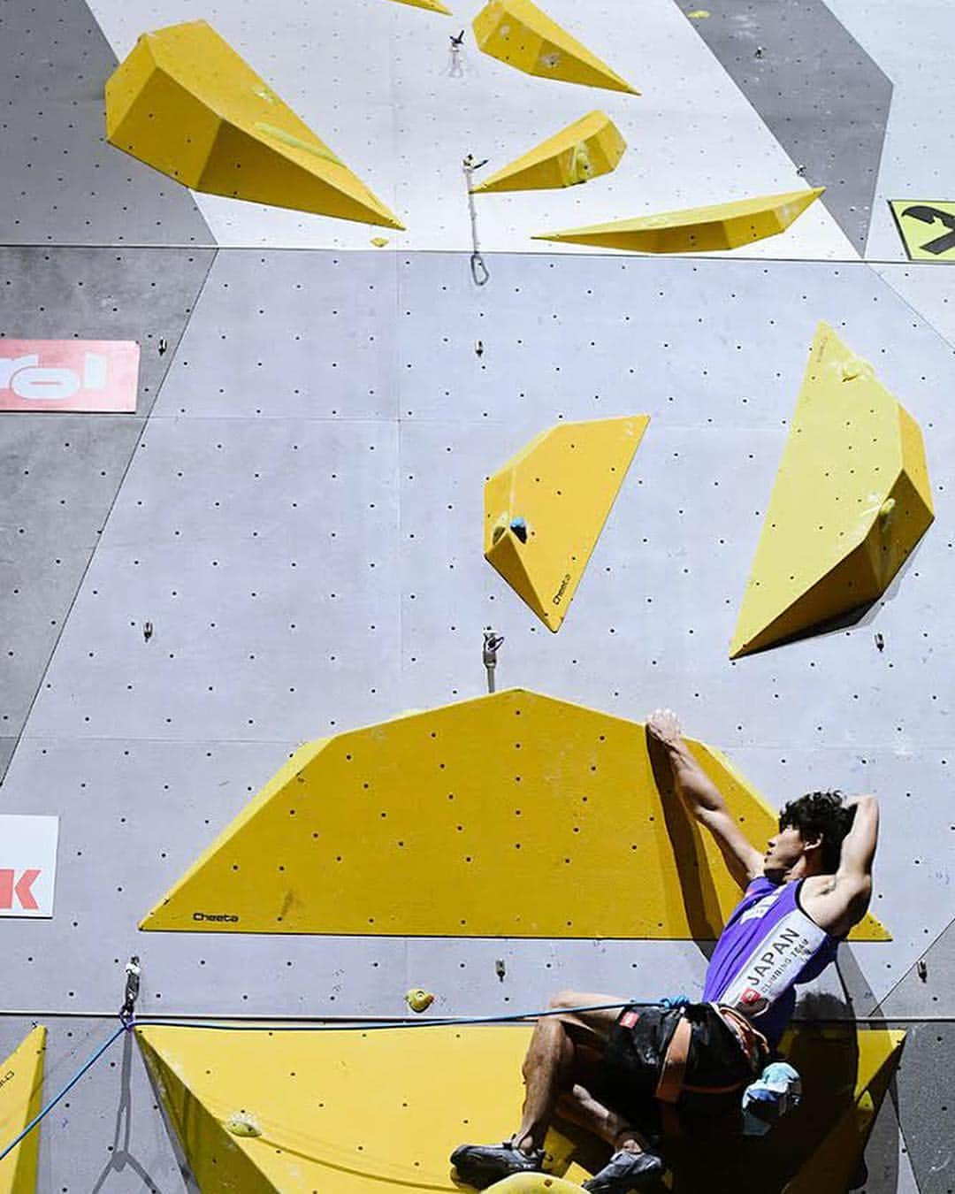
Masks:
[[[771,836],[729,762],[691,749],[750,838]],[[711,938],[738,900],[661,798],[641,725],[517,689],[303,746],[141,927]]]

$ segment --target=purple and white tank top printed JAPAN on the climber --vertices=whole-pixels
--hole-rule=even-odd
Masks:
[[[800,907],[802,881],[754,879],[720,934],[707,967],[706,1003],[738,1008],[776,1045],[809,983],[836,958],[839,938]]]

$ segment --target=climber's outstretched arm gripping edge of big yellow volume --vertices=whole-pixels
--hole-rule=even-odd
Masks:
[[[763,855],[733,819],[716,784],[683,740],[676,716],[658,709],[647,719],[647,733],[666,751],[679,798],[686,812],[713,835],[727,869],[740,887],[763,874]]]

